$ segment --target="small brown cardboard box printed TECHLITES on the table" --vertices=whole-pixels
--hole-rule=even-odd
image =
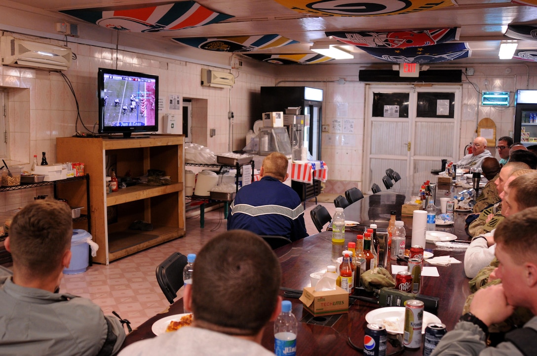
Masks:
[[[322,292],[315,291],[315,287],[304,287],[300,301],[314,316],[349,313],[349,293],[340,287]]]

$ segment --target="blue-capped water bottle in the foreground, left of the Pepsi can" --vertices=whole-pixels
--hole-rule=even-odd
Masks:
[[[296,334],[298,323],[291,312],[291,302],[281,302],[281,314],[274,322],[274,353],[276,356],[296,355]]]

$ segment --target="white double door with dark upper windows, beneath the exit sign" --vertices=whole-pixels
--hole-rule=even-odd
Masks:
[[[368,85],[366,93],[364,191],[385,190],[388,168],[425,181],[442,159],[458,160],[460,86]]]

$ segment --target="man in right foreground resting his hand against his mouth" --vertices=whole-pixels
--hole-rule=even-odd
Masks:
[[[537,173],[536,173],[537,174]],[[521,176],[517,179],[520,179]],[[513,180],[516,181],[517,179]],[[513,183],[511,182],[511,183]],[[502,284],[478,290],[470,312],[449,331],[433,355],[533,355],[537,350],[537,316],[505,335],[505,342],[487,348],[485,339],[492,324],[503,322],[516,307],[537,314],[537,207],[507,217],[496,229],[496,277]],[[516,233],[514,233],[516,231]]]

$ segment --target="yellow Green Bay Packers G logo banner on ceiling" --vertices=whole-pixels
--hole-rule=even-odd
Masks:
[[[297,12],[329,16],[384,16],[441,9],[453,6],[452,0],[276,0]]]

